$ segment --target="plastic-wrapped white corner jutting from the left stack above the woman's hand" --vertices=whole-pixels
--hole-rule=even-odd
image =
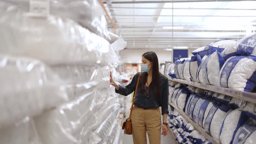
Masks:
[[[118,51],[125,48],[127,43],[120,36],[115,35],[114,33],[108,32],[110,39],[108,42],[111,44],[113,50]]]

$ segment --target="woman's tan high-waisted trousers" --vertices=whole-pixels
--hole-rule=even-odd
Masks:
[[[161,113],[159,108],[144,109],[134,107],[131,115],[134,144],[161,143]]]

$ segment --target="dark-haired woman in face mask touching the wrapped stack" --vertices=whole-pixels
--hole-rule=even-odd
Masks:
[[[146,132],[150,144],[161,143],[161,113],[162,108],[163,125],[162,135],[167,135],[167,114],[168,111],[168,79],[158,69],[158,56],[154,52],[146,52],[141,59],[141,77],[138,84],[138,91],[134,101],[134,108],[131,115],[132,137],[134,144],[147,144]],[[110,84],[115,87],[115,92],[121,95],[129,95],[135,91],[139,73],[131,83],[123,88],[117,85],[110,74]]]

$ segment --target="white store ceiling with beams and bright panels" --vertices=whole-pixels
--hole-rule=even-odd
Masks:
[[[256,1],[103,0],[127,49],[195,49],[256,32]],[[173,3],[172,3],[173,2]]]

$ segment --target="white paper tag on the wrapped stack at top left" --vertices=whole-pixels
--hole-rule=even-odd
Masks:
[[[30,0],[30,16],[46,17],[49,15],[49,0]]]

